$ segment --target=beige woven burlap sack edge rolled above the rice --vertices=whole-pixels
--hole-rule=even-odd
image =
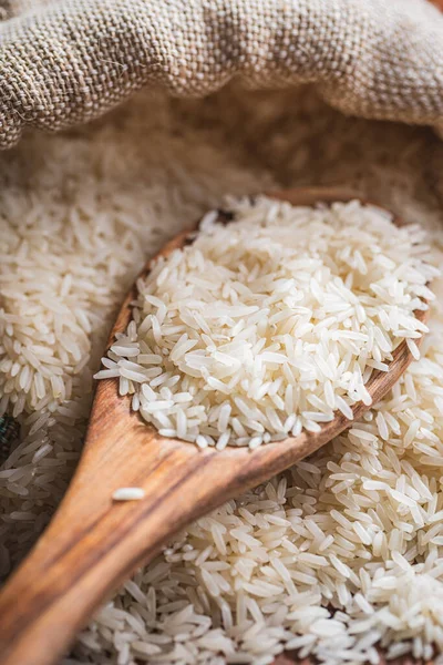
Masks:
[[[439,125],[443,17],[425,0],[3,0],[0,145],[143,85],[204,95],[315,82],[350,114]]]

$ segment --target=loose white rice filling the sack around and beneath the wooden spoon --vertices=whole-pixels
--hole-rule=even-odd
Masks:
[[[140,98],[0,155],[0,393],[22,430],[0,468],[1,573],[66,487],[109,327],[168,237],[228,192],[347,184],[424,225],[435,264],[441,160],[425,130],[344,119],[307,93],[236,90]],[[331,665],[375,663],[380,641],[392,657],[443,649],[439,288],[422,357],[395,389],[316,456],[189,526],[64,665],[257,665],[285,646]]]

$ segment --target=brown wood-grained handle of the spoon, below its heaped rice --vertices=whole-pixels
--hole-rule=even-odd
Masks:
[[[94,433],[52,523],[0,594],[1,665],[58,663],[103,597],[212,508],[217,483],[195,447],[146,441],[143,424],[124,446],[119,423],[102,446]],[[134,484],[143,500],[112,501]]]

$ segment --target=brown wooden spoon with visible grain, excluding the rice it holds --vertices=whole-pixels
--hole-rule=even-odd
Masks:
[[[274,194],[295,205],[350,201],[329,188]],[[396,219],[401,224],[400,219]],[[161,253],[182,247],[182,233]],[[148,267],[143,275],[146,275]],[[131,320],[135,286],[123,303],[110,345]],[[416,311],[421,320],[425,311]],[[405,342],[388,372],[373,371],[367,388],[379,401],[412,360]],[[319,433],[301,432],[253,452],[198,450],[165,439],[131,411],[117,381],[100,381],[84,451],[50,526],[0,596],[0,665],[51,665],[72,643],[104,597],[158,553],[179,529],[312,453],[351,424],[340,412]],[[368,409],[357,403],[356,420]],[[114,490],[140,487],[141,501],[114,502]]]

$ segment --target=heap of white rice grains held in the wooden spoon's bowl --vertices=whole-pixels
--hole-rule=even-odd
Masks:
[[[414,311],[439,275],[423,231],[359,201],[228,207],[230,224],[206,214],[194,243],[137,283],[134,319],[95,378],[119,378],[161,434],[200,448],[319,432],[336,410],[352,420],[401,341],[420,358]]]

